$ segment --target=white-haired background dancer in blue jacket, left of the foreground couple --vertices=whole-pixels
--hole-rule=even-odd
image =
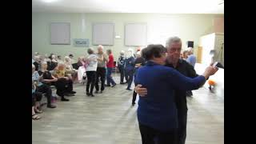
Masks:
[[[128,81],[128,86],[126,90],[131,90],[130,86],[132,82],[134,81],[134,54],[133,50],[129,49],[128,53],[126,55],[126,60],[125,60],[125,76],[126,76],[126,81]]]

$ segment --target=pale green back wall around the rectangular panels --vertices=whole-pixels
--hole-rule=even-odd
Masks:
[[[126,22],[146,22],[148,28],[148,43],[165,45],[166,38],[178,36],[182,38],[183,48],[186,41],[194,41],[198,47],[202,35],[214,32],[214,19],[222,18],[223,14],[32,14],[32,51],[40,54],[74,54],[75,58],[86,54],[87,48],[74,47],[73,38],[89,38],[92,46],[92,23],[114,22],[115,34],[121,38],[114,39],[114,46],[105,46],[114,52],[117,60],[124,46],[124,26]],[[50,22],[70,22],[70,45],[50,45]],[[93,46],[96,47],[96,46]],[[105,49],[105,50],[106,50]],[[135,47],[134,47],[135,50]],[[194,54],[197,54],[195,49]]]

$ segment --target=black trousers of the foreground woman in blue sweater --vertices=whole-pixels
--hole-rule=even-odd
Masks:
[[[175,130],[161,131],[138,123],[142,135],[142,144],[176,144]]]

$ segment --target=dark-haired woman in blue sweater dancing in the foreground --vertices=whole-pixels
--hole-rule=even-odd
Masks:
[[[136,83],[146,87],[146,97],[138,101],[138,125],[142,144],[175,143],[178,116],[174,103],[174,90],[195,90],[206,82],[218,68],[209,66],[205,73],[196,78],[187,78],[177,70],[163,66],[166,61],[166,48],[150,45],[142,50],[146,66],[138,69]]]

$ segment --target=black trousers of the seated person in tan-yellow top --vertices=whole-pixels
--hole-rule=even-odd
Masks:
[[[66,80],[66,78],[58,78],[57,82],[52,82],[52,85],[56,86],[56,94],[64,98],[65,93],[69,93],[73,90],[73,81],[71,79]]]

